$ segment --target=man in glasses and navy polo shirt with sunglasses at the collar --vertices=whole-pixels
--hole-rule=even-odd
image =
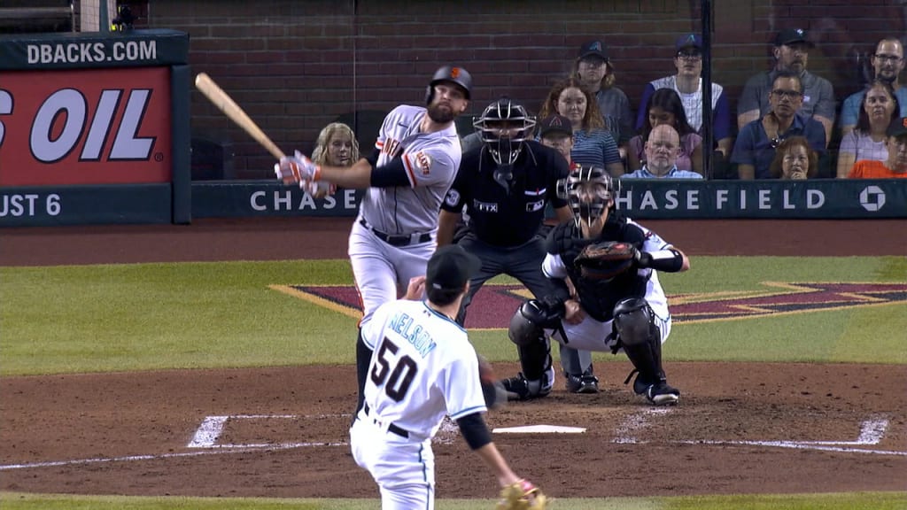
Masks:
[[[746,124],[734,143],[731,162],[736,163],[740,179],[768,179],[775,149],[785,139],[805,136],[810,147],[820,155],[825,150],[823,124],[812,117],[798,115],[803,105],[803,84],[800,76],[789,71],[775,74],[772,89],[766,93],[769,111]]]

